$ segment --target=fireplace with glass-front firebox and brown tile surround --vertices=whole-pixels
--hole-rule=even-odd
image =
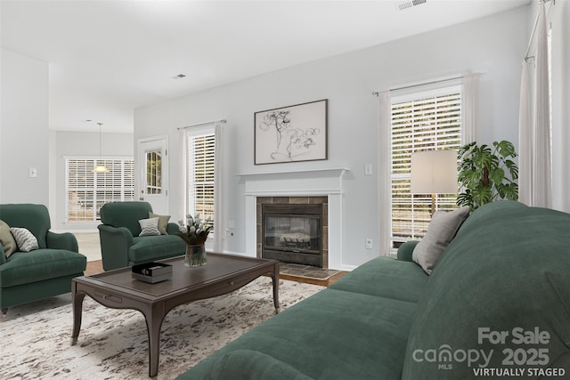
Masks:
[[[258,256],[327,268],[326,199],[259,198]]]

